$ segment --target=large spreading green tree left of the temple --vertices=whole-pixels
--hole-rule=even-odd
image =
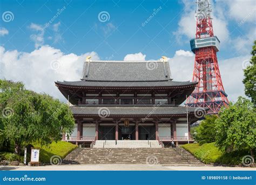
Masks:
[[[32,142],[47,145],[62,138],[62,133],[71,133],[75,120],[68,105],[47,94],[25,90],[24,85],[1,80],[2,133],[9,141],[15,142],[15,152],[21,146]],[[12,87],[15,87],[12,91]],[[11,87],[11,88],[10,88]],[[17,91],[16,91],[17,90]],[[10,95],[11,94],[11,95]],[[3,97],[3,99],[2,99]]]

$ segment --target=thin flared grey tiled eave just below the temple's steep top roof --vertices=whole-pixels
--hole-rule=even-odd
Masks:
[[[176,87],[195,86],[197,82],[190,81],[57,81],[58,85],[84,87]]]

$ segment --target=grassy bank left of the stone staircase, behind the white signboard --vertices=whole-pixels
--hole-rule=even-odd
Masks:
[[[33,144],[33,147],[40,148],[39,161],[43,163],[50,163],[51,156],[58,155],[62,159],[68,155],[72,150],[77,148],[77,145],[73,145],[70,142],[58,141],[52,142],[48,146],[41,146],[39,144]]]

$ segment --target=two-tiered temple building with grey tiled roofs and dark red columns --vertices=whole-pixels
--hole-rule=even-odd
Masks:
[[[180,106],[197,86],[174,81],[166,57],[156,61],[93,61],[86,58],[82,78],[55,82],[69,100],[76,120],[63,140],[193,142],[190,125],[197,108]],[[207,111],[207,109],[203,109]]]

